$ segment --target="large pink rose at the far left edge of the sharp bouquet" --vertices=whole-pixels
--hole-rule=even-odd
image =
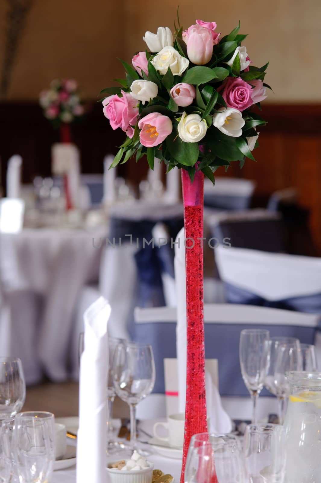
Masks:
[[[129,138],[132,138],[134,136],[132,126],[136,124],[138,117],[137,100],[128,92],[121,91],[121,94],[122,97],[115,95],[103,100],[103,113],[114,130],[121,128]]]

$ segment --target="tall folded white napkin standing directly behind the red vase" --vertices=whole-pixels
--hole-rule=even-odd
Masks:
[[[185,412],[186,401],[186,269],[185,269],[185,231],[178,233],[175,244],[175,284],[177,297],[177,326],[176,326],[176,353],[178,362],[178,395],[179,412]],[[212,433],[229,433],[232,430],[231,419],[224,411],[221,397],[211,374],[205,370],[207,415],[210,418],[210,431]]]

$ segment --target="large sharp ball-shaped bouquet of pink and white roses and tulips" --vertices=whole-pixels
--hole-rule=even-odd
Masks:
[[[183,30],[178,14],[177,20],[174,38],[168,27],[146,32],[148,50],[136,53],[132,66],[121,61],[126,78],[114,79],[121,87],[101,91],[111,127],[127,135],[111,168],[146,154],[151,169],[156,157],[167,172],[183,168],[193,181],[201,170],[214,183],[219,166],[255,161],[256,127],[266,124],[257,111],[270,88],[268,63],[252,65],[240,23],[221,36],[215,22],[196,20]]]

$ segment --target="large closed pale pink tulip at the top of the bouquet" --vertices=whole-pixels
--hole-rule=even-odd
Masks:
[[[208,28],[195,25],[187,39],[187,56],[193,64],[207,64],[213,55],[213,37]]]

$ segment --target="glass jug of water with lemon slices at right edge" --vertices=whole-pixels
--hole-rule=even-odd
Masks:
[[[321,483],[321,372],[291,371],[286,377],[286,482]]]

